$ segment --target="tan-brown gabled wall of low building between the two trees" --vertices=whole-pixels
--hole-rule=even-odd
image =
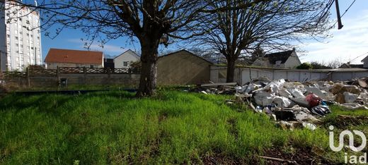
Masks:
[[[159,85],[208,83],[211,64],[189,51],[161,56],[157,63],[157,82]]]

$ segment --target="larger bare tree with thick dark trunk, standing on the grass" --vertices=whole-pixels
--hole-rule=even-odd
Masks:
[[[142,50],[137,96],[142,97],[156,92],[156,61],[161,42],[167,44],[168,37],[188,39],[201,35],[207,30],[199,27],[211,21],[214,13],[248,8],[260,1],[266,0],[230,7],[208,5],[219,4],[219,0],[51,0],[41,1],[38,6],[16,2],[40,11],[44,29],[61,25],[56,35],[67,27],[79,29],[86,33],[88,41],[98,40],[101,46],[122,36],[137,39]]]

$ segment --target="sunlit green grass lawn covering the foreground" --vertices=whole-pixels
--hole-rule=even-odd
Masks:
[[[168,90],[144,99],[120,91],[9,94],[0,99],[0,164],[251,163],[266,149],[293,148],[343,161],[329,152],[326,126],[282,130],[268,116],[224,104],[231,98]],[[333,113],[326,124],[345,112]]]

